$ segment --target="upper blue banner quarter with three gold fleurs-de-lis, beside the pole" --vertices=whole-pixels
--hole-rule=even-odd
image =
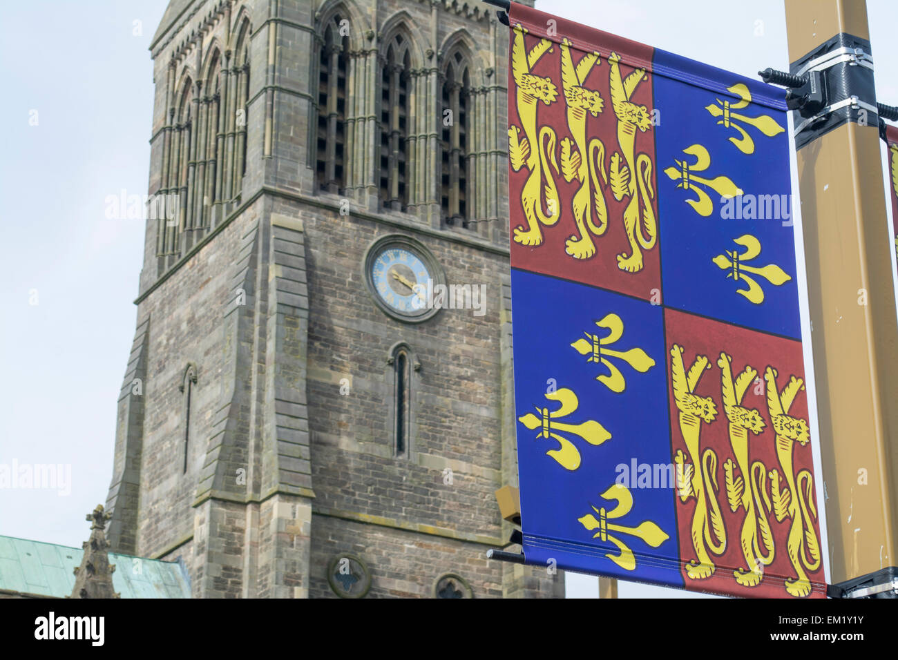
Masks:
[[[664,303],[800,339],[782,92],[663,50],[655,70]]]

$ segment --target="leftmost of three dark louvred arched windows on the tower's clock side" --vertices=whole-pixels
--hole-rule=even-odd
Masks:
[[[346,101],[348,22],[335,13],[324,27],[318,69],[318,128],[315,174],[318,187],[339,192],[346,186]]]

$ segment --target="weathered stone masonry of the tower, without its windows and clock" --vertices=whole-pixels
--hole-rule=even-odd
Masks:
[[[471,111],[497,121],[470,145],[480,163],[471,204],[483,217],[462,229],[439,221],[438,172],[428,160],[442,116],[438,101],[428,106],[433,117],[413,117],[420,160],[409,176],[425,188],[409,213],[377,212],[373,107],[357,108],[349,215],[338,210],[345,198],[315,190],[309,138],[317,81],[308,26],[334,8],[332,0],[182,4],[187,8],[154,43],[149,189],[161,185],[169,81],[184,70],[195,75],[198,52],[232,43],[245,12],[253,30],[247,172],[234,201],[243,207],[161,282],[155,221],[147,224],[140,327],[128,367],[128,374],[143,369],[144,393],[139,402],[124,396],[119,410],[116,479],[123,485],[110,497],[123,504],[110,530],[142,556],[184,559],[198,597],[331,596],[327,562],[345,552],[371,569],[372,597],[430,597],[436,577],[450,572],[468,580],[475,597],[563,594],[560,574],[485,558],[511,529],[499,519],[493,492],[516,483],[507,388],[507,28],[473,2],[343,5],[356,30],[354,57],[376,61],[383,31],[405,21],[416,75],[436,84],[441,48],[461,40],[469,49],[478,104]],[[365,93],[373,100],[380,92]],[[484,285],[485,313],[445,309],[420,324],[383,313],[362,263],[368,246],[387,234],[423,242],[447,284]],[[235,310],[243,289],[247,307]],[[408,458],[392,449],[387,356],[400,341],[420,365],[411,376]],[[180,386],[189,364],[197,383],[184,471]],[[341,394],[344,383],[348,393]]]

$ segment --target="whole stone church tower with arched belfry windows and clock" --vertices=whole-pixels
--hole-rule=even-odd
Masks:
[[[486,559],[516,484],[507,44],[478,0],[172,0],[149,193],[177,213],[146,224],[113,551],[196,597],[563,595]]]

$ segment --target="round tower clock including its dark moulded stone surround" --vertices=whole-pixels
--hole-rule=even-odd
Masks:
[[[428,304],[428,293],[445,277],[421,242],[398,234],[383,236],[368,248],[363,266],[374,302],[394,319],[419,323],[439,311]]]

